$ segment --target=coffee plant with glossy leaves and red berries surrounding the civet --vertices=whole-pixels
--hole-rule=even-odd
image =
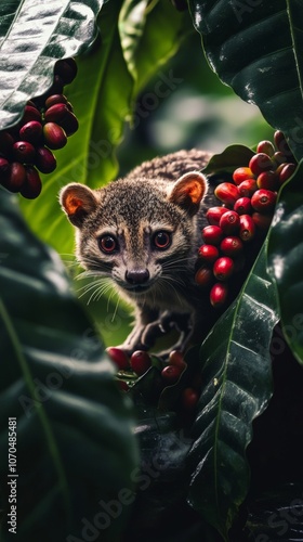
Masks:
[[[294,0],[2,2],[3,542],[302,538],[302,22]],[[57,194],[154,154],[144,126],[184,80],[176,53],[187,69],[201,54],[194,34],[197,77],[256,105],[268,136],[228,138],[202,170],[218,204],[193,280],[211,330],[185,354],[128,357],[106,288],[83,289],[97,315],[73,292]]]

